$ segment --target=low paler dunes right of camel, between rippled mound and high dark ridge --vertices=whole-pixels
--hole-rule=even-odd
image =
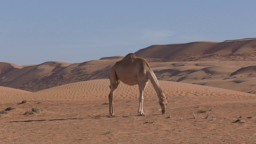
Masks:
[[[243,66],[240,62],[155,62],[152,70],[160,80],[255,93],[254,66]]]

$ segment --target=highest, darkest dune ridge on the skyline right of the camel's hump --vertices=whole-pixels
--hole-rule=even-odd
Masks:
[[[224,42],[190,42],[184,44],[153,45],[135,52],[143,58],[164,61],[252,61],[255,58],[256,38]]]

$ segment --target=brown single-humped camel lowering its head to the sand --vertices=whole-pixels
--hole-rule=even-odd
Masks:
[[[113,96],[120,82],[130,86],[134,86],[136,84],[139,85],[140,97],[138,116],[145,116],[142,106],[144,99],[143,92],[148,84],[148,80],[150,80],[156,91],[159,99],[158,103],[162,109],[162,114],[164,114],[167,98],[164,95],[164,92],[161,90],[154,72],[144,58],[137,57],[133,53],[127,54],[122,60],[116,62],[114,66],[112,66],[109,77],[111,89],[108,95],[110,116],[115,116],[113,110]]]

